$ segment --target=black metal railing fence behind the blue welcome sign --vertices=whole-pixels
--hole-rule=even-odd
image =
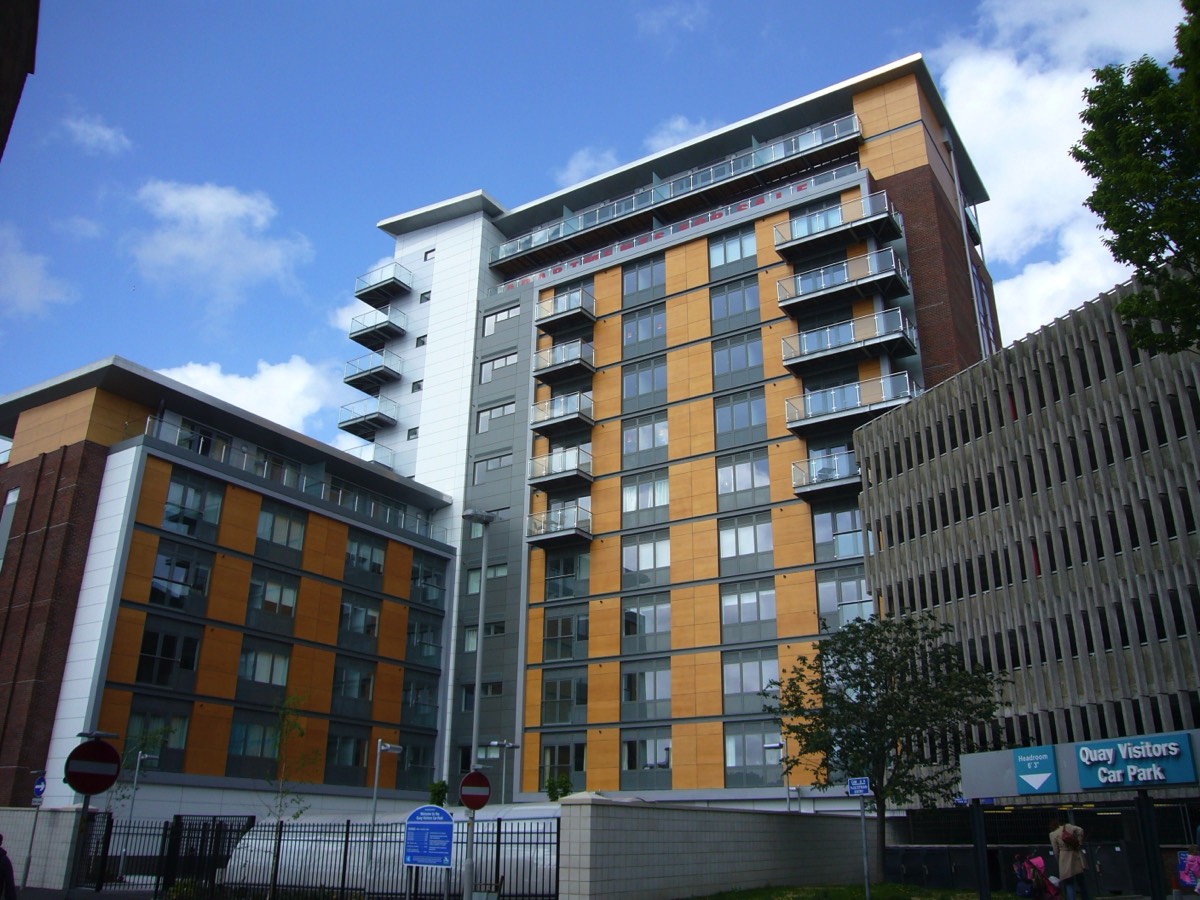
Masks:
[[[503,896],[558,898],[558,820],[475,823],[475,884]],[[76,886],[152,892],[173,900],[228,898],[462,896],[464,822],[451,866],[404,865],[404,823],[194,818],[114,821],[95,814],[80,841]],[[492,889],[496,889],[493,887]]]

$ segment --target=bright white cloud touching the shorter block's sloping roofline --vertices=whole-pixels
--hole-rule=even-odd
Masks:
[[[342,390],[336,364],[313,364],[300,355],[287,362],[259,360],[250,376],[224,372],[220,362],[186,362],[158,372],[296,431],[304,431],[307,420],[322,410],[338,406]]]

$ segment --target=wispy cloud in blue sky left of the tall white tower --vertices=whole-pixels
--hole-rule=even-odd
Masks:
[[[192,290],[209,301],[210,312],[230,311],[264,284],[294,293],[295,269],[312,258],[304,235],[269,233],[276,210],[262,192],[148,181],[137,200],[155,220],[132,244],[142,275]]]

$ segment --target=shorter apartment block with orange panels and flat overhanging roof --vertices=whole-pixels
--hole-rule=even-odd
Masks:
[[[119,358],[0,397],[0,805],[37,769],[76,803],[96,731],[154,757],[146,816],[268,815],[280,779],[361,812],[379,740],[383,796],[427,796],[448,497]]]

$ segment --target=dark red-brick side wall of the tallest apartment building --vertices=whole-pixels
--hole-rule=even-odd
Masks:
[[[881,179],[878,184],[904,214],[924,379],[925,386],[932,388],[982,359],[971,274],[962,253],[962,227],[928,167]],[[973,248],[972,257],[984,272],[992,298],[991,281]],[[991,305],[995,322],[994,301]]]

